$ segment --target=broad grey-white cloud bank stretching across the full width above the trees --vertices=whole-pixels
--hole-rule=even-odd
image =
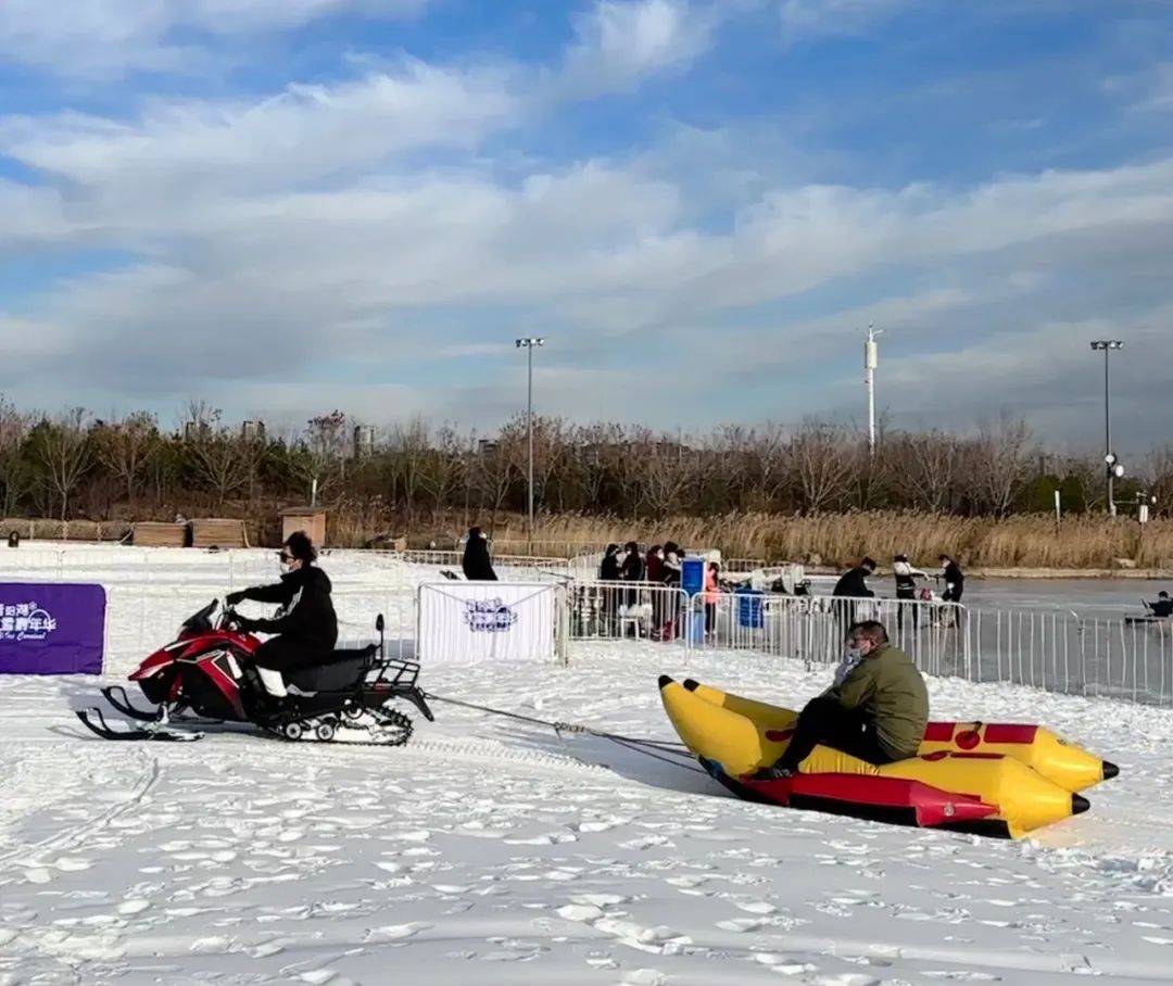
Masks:
[[[25,366],[0,367],[0,388],[20,386],[41,359],[38,402],[206,394],[232,413],[264,408],[266,396],[296,407],[298,393],[352,407],[362,393],[372,408],[386,399],[389,417],[418,401],[491,422],[513,406],[511,379],[469,373],[477,382],[433,393],[401,368],[500,367],[513,335],[535,331],[555,340],[543,366],[564,385],[548,394],[551,410],[629,415],[652,360],[664,379],[706,381],[690,414],[714,417],[730,416],[718,401],[746,407],[740,381],[758,386],[757,373],[768,383],[754,404],[765,417],[838,407],[794,354],[826,369],[841,348],[854,368],[850,331],[870,317],[894,329],[903,321],[903,339],[918,333],[928,353],[900,378],[916,397],[908,406],[922,394],[944,401],[951,386],[968,414],[1018,400],[1036,378],[990,362],[983,387],[917,385],[916,374],[950,379],[940,367],[956,359],[954,322],[978,347],[992,332],[983,319],[1015,319],[1011,300],[1030,338],[1063,321],[1073,285],[1131,284],[1140,270],[1148,285],[1173,283],[1173,159],[884,189],[804,183],[751,157],[753,175],[726,183],[714,215],[698,216],[689,199],[703,156],[557,168],[510,158],[499,170],[487,138],[537,109],[516,70],[407,62],[251,103],[155,100],[133,121],[0,121],[0,152],[45,182],[0,182],[0,237],[140,258],[26,297],[12,332],[60,327],[69,356],[28,353]],[[721,162],[735,172],[735,141]],[[1091,317],[1118,302],[1103,288],[1079,304]],[[934,333],[945,319],[949,331]],[[1053,347],[1062,336],[1038,339]],[[613,360],[624,369],[604,372]],[[352,379],[372,367],[388,367],[398,389],[355,392]],[[680,413],[646,408],[655,424]]]

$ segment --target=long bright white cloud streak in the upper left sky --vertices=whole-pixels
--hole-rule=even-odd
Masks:
[[[367,170],[425,147],[468,149],[518,113],[499,72],[407,61],[394,74],[291,84],[248,102],[156,100],[133,123],[9,117],[0,120],[0,152],[108,193],[178,189],[192,197]]]

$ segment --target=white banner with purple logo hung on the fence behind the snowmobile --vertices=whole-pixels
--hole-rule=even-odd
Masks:
[[[555,657],[558,586],[443,582],[420,586],[416,653],[427,667]]]

